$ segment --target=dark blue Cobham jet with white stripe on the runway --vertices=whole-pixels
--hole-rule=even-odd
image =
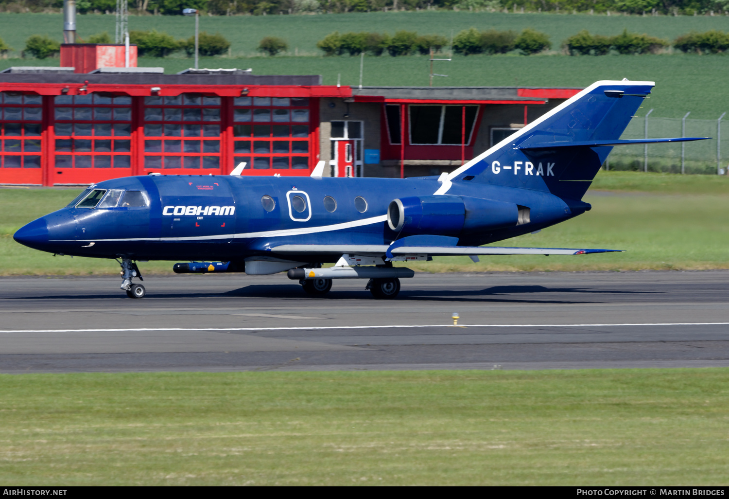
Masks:
[[[394,298],[409,268],[437,255],[582,255],[616,250],[481,246],[590,209],[581,201],[654,82],[600,81],[450,174],[408,179],[160,175],[107,180],[15,233],[58,255],[115,258],[130,298],[136,262],[183,260],[176,273],[288,271],[306,293],[369,279]],[[324,268],[324,263],[334,266]]]

